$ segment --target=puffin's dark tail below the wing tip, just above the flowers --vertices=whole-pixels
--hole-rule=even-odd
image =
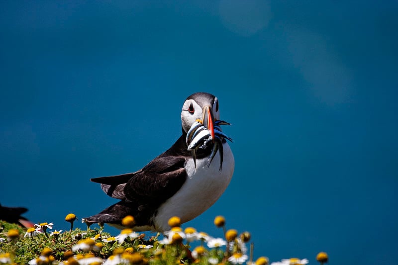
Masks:
[[[121,220],[127,215],[133,215],[133,211],[128,203],[122,200],[102,210],[96,215],[83,218],[82,221],[88,225],[94,223],[103,225],[104,223],[107,223],[114,226],[121,226]]]

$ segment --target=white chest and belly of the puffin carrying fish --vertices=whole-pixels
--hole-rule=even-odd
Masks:
[[[188,178],[181,189],[158,209],[158,213],[153,219],[156,230],[168,230],[167,222],[172,216],[180,217],[182,222],[194,219],[221,196],[231,181],[235,167],[229,145],[224,143],[223,148],[222,171],[219,171],[219,152],[208,168],[207,158],[197,159],[196,169],[194,160],[188,160],[185,165]]]

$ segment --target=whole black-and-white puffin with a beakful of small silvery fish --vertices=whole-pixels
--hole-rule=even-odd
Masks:
[[[198,122],[200,129],[207,130],[207,138],[193,152],[187,133],[191,135],[191,127]],[[230,138],[217,124],[229,123],[220,120],[216,96],[206,92],[188,96],[181,111],[182,135],[168,150],[136,172],[91,178],[119,201],[82,222],[122,229],[122,219],[131,215],[134,231],[165,232],[173,216],[181,223],[199,216],[225,191],[234,172],[234,157],[226,141]],[[217,137],[220,134],[224,137]]]

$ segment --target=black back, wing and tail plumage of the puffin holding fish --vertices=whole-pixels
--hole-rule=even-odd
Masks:
[[[123,217],[132,215],[137,226],[152,225],[150,218],[156,209],[173,196],[187,179],[184,169],[187,157],[179,152],[180,143],[184,143],[184,137],[137,172],[92,178],[92,181],[101,183],[108,195],[121,201],[85,218],[86,222],[120,224]]]

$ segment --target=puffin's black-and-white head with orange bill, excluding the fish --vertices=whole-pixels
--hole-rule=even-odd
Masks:
[[[214,121],[219,120],[218,99],[212,94],[198,92],[190,95],[181,111],[181,123],[184,132],[188,132],[196,120],[206,127],[214,139]]]

